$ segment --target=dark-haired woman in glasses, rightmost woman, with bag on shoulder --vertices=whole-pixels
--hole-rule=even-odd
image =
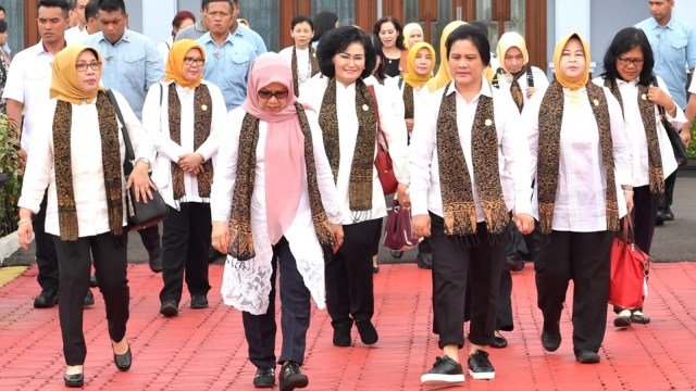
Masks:
[[[617,33],[605,54],[605,73],[593,81],[608,87],[623,109],[626,135],[633,157],[633,230],[635,244],[650,253],[652,232],[660,200],[664,199],[664,180],[676,171],[676,160],[667,131],[659,117],[658,106],[666,118],[681,128],[686,122],[682,110],[658,75],[652,74],[655,56],[645,33],[635,27]],[[650,318],[643,307],[614,306],[616,327],[632,323],[647,324]]]

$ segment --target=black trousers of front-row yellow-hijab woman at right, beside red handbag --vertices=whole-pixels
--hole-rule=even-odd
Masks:
[[[611,236],[607,231],[551,231],[550,238],[535,231],[538,257],[537,305],[544,323],[558,323],[568,282],[573,280],[573,349],[599,351],[607,326]]]

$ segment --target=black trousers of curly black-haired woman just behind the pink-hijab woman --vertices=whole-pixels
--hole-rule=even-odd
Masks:
[[[334,328],[350,328],[353,320],[374,315],[372,255],[377,227],[382,228],[382,218],[344,225],[344,244],[324,268],[326,308]]]

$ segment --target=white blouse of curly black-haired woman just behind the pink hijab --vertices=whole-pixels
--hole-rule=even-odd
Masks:
[[[316,113],[320,113],[328,80],[327,77],[311,78],[300,91],[300,101],[308,103],[316,110]],[[374,91],[380,105],[380,124],[389,144],[389,155],[394,164],[394,174],[399,184],[408,184],[408,147],[406,124],[402,119],[403,115],[401,114],[401,117],[398,117],[393,106],[394,101],[389,97],[389,91],[386,87],[376,84],[374,85]],[[384,217],[387,214],[387,209],[376,169],[372,172],[372,211],[370,211],[370,213],[355,213],[350,211],[349,207],[348,188],[350,185],[350,168],[359,127],[357,110],[361,110],[361,108],[356,108],[355,84],[345,87],[336,81],[336,108],[338,108],[337,114],[340,127],[340,162],[338,165],[336,188],[338,189],[343,224],[355,224]]]

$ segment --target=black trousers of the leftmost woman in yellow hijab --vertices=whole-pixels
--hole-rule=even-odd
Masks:
[[[121,341],[126,335],[130,291],[126,276],[128,235],[114,237],[105,232],[76,241],[62,241],[51,236],[60,266],[58,311],[63,337],[63,354],[67,365],[83,365],[87,345],[83,332],[83,310],[91,274],[90,251],[99,290],[107,305],[109,337]]]

